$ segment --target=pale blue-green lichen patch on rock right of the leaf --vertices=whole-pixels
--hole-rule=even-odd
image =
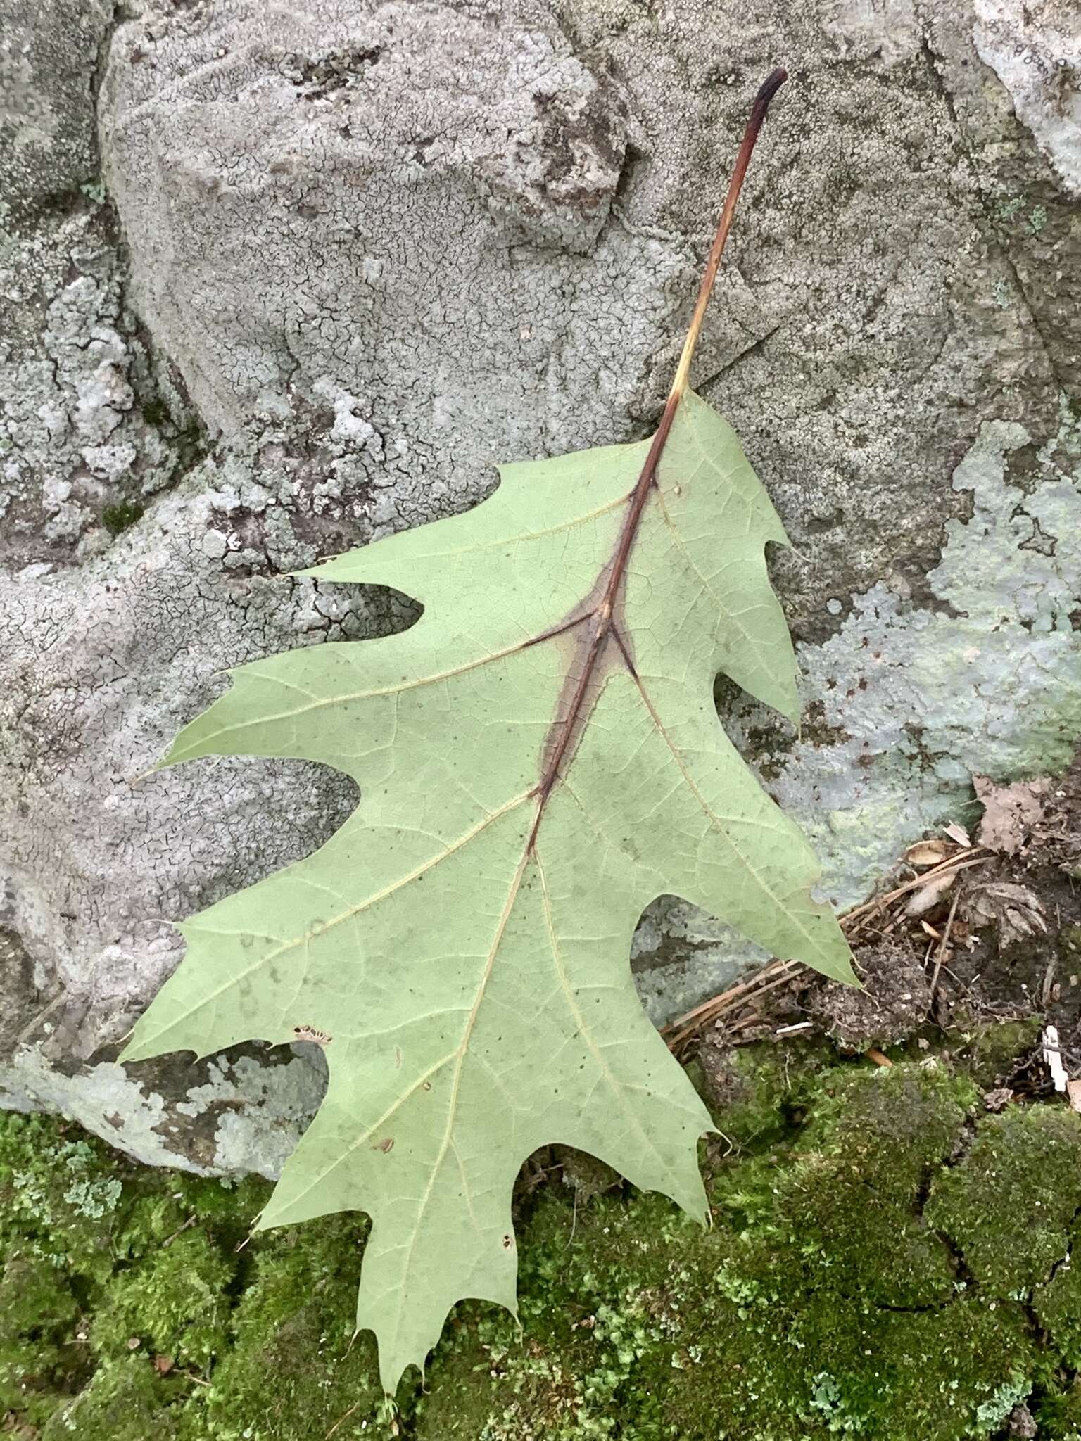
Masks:
[[[778,791],[842,905],[924,827],[963,811],[973,774],[1054,775],[1081,735],[1081,437],[1064,414],[1038,484],[1020,488],[1010,457],[1028,442],[1019,425],[984,425],[954,471],[973,514],[948,522],[928,575],[941,608],[876,586],[833,640],[801,650],[809,700],[846,738],[797,744]],[[853,847],[860,830],[866,846]]]

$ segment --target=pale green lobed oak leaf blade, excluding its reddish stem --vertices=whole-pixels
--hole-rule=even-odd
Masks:
[[[326,1099],[259,1225],[369,1213],[357,1326],[378,1334],[388,1391],[457,1300],[515,1308],[510,1189],[539,1146],[591,1151],[705,1219],[711,1120],[630,976],[650,901],[683,896],[852,978],[810,896],[810,847],[713,709],[724,670],[794,716],[796,667],[764,563],[781,523],[698,396],[630,555],[634,670],[610,646],[529,849],[590,624],[566,621],[597,594],[647,448],[506,465],[467,514],[308,572],[393,586],[424,614],[404,634],[244,666],[167,757],[303,757],[362,787],[319,852],[184,924],[186,958],[121,1059],[297,1026],[333,1038]]]

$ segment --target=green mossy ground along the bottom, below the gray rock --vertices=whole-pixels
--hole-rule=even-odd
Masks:
[[[0,1117],[0,1431],[990,1441],[1023,1404],[1081,1441],[1081,1117],[989,1115],[960,1065],[813,1045],[739,1050],[729,1081],[711,1229],[626,1187],[538,1187],[520,1327],[460,1306],[396,1408],[370,1337],[350,1343],[359,1218],[241,1245],[262,1182]]]

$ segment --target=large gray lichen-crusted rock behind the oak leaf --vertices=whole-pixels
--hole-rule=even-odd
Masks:
[[[0,61],[6,1104],[277,1169],[321,1058],[114,1058],[169,922],[308,853],[353,793],[285,762],[146,772],[225,667],[409,618],[288,571],[470,506],[499,460],[650,429],[778,61],[696,383],[793,537],[806,710],[800,736],[722,713],[839,905],[973,771],[1064,764],[1081,239],[1051,3],[1019,35],[995,0],[9,16],[33,33]],[[754,958],[672,901],[636,942],[657,1020]]]

